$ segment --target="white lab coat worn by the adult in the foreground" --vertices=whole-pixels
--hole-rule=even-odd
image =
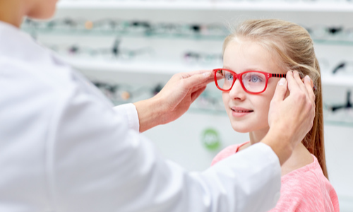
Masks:
[[[112,106],[54,53],[0,22],[0,211],[275,206],[280,163],[269,146],[253,145],[189,173],[139,134],[134,105]]]

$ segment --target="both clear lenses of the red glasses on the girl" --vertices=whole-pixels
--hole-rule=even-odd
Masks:
[[[232,88],[233,82],[236,79],[236,76],[230,71],[217,71],[217,83],[223,90]],[[266,76],[263,73],[248,72],[241,75],[241,82],[246,90],[253,93],[261,92],[266,86]]]

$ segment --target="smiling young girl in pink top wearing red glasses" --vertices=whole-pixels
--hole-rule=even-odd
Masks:
[[[288,70],[309,75],[316,85],[313,127],[282,165],[281,196],[271,212],[340,211],[325,164],[320,68],[309,33],[283,20],[247,20],[225,39],[223,58],[215,83],[233,129],[249,132],[250,141],[225,148],[212,165],[263,139],[275,86]]]

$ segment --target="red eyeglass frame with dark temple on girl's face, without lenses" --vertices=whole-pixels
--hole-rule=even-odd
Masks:
[[[217,73],[219,73],[218,71],[222,71],[222,70],[229,71],[229,72],[232,73],[232,75],[233,75],[233,83],[232,83],[232,86],[230,86],[230,88],[227,89],[227,90],[225,90],[225,89],[223,89],[223,88],[220,88],[220,86],[218,85],[218,82],[217,82]],[[245,88],[245,86],[244,86],[244,84],[243,84],[243,81],[241,81],[241,76],[243,76],[244,73],[250,73],[250,72],[251,72],[251,73],[253,73],[253,72],[255,72],[255,73],[263,73],[263,75],[265,75],[265,79],[266,79],[266,81],[265,81],[265,88],[263,88],[262,91],[260,91],[260,92],[251,92],[251,91],[249,91],[249,90],[247,90],[247,89]],[[220,90],[222,90],[222,91],[226,91],[226,92],[229,91],[229,90],[232,90],[235,81],[236,81],[237,79],[240,79],[239,82],[240,82],[241,87],[244,89],[244,91],[245,91],[246,93],[250,93],[250,94],[259,94],[259,93],[265,92],[265,90],[266,90],[266,88],[267,88],[267,86],[268,86],[268,79],[269,79],[269,78],[272,78],[272,77],[285,78],[285,77],[287,76],[287,74],[285,74],[285,73],[268,73],[268,72],[265,72],[265,71],[251,71],[251,70],[250,70],[250,71],[244,71],[244,72],[241,72],[241,73],[235,73],[234,71],[229,70],[229,69],[213,69],[213,74],[214,74],[214,78],[215,78],[215,84],[216,84],[216,86],[217,86],[218,89],[220,89]],[[234,76],[235,76],[235,77],[234,77]]]

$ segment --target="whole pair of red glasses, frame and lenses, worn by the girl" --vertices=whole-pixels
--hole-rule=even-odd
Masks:
[[[286,74],[268,73],[264,71],[235,73],[229,69],[213,69],[213,76],[217,88],[222,91],[232,90],[235,81],[239,79],[239,83],[246,93],[260,94],[266,90],[270,78],[285,78]],[[313,86],[313,90],[316,90],[316,86]]]

